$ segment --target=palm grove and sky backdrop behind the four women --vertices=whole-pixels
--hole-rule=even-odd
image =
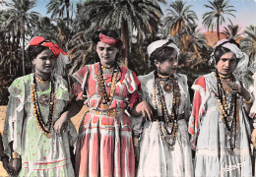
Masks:
[[[147,46],[171,37],[181,50],[178,72],[188,76],[189,86],[200,75],[214,71],[208,61],[215,43],[232,38],[250,57],[245,78],[249,86],[256,57],[256,20],[249,15],[255,15],[253,8],[253,0],[0,0],[1,128],[8,87],[16,78],[32,73],[25,48],[33,36],[44,36],[68,53],[66,78],[96,62],[90,38],[97,29],[119,32],[123,42],[120,62],[137,75],[153,70]],[[246,9],[251,12],[246,14]]]

